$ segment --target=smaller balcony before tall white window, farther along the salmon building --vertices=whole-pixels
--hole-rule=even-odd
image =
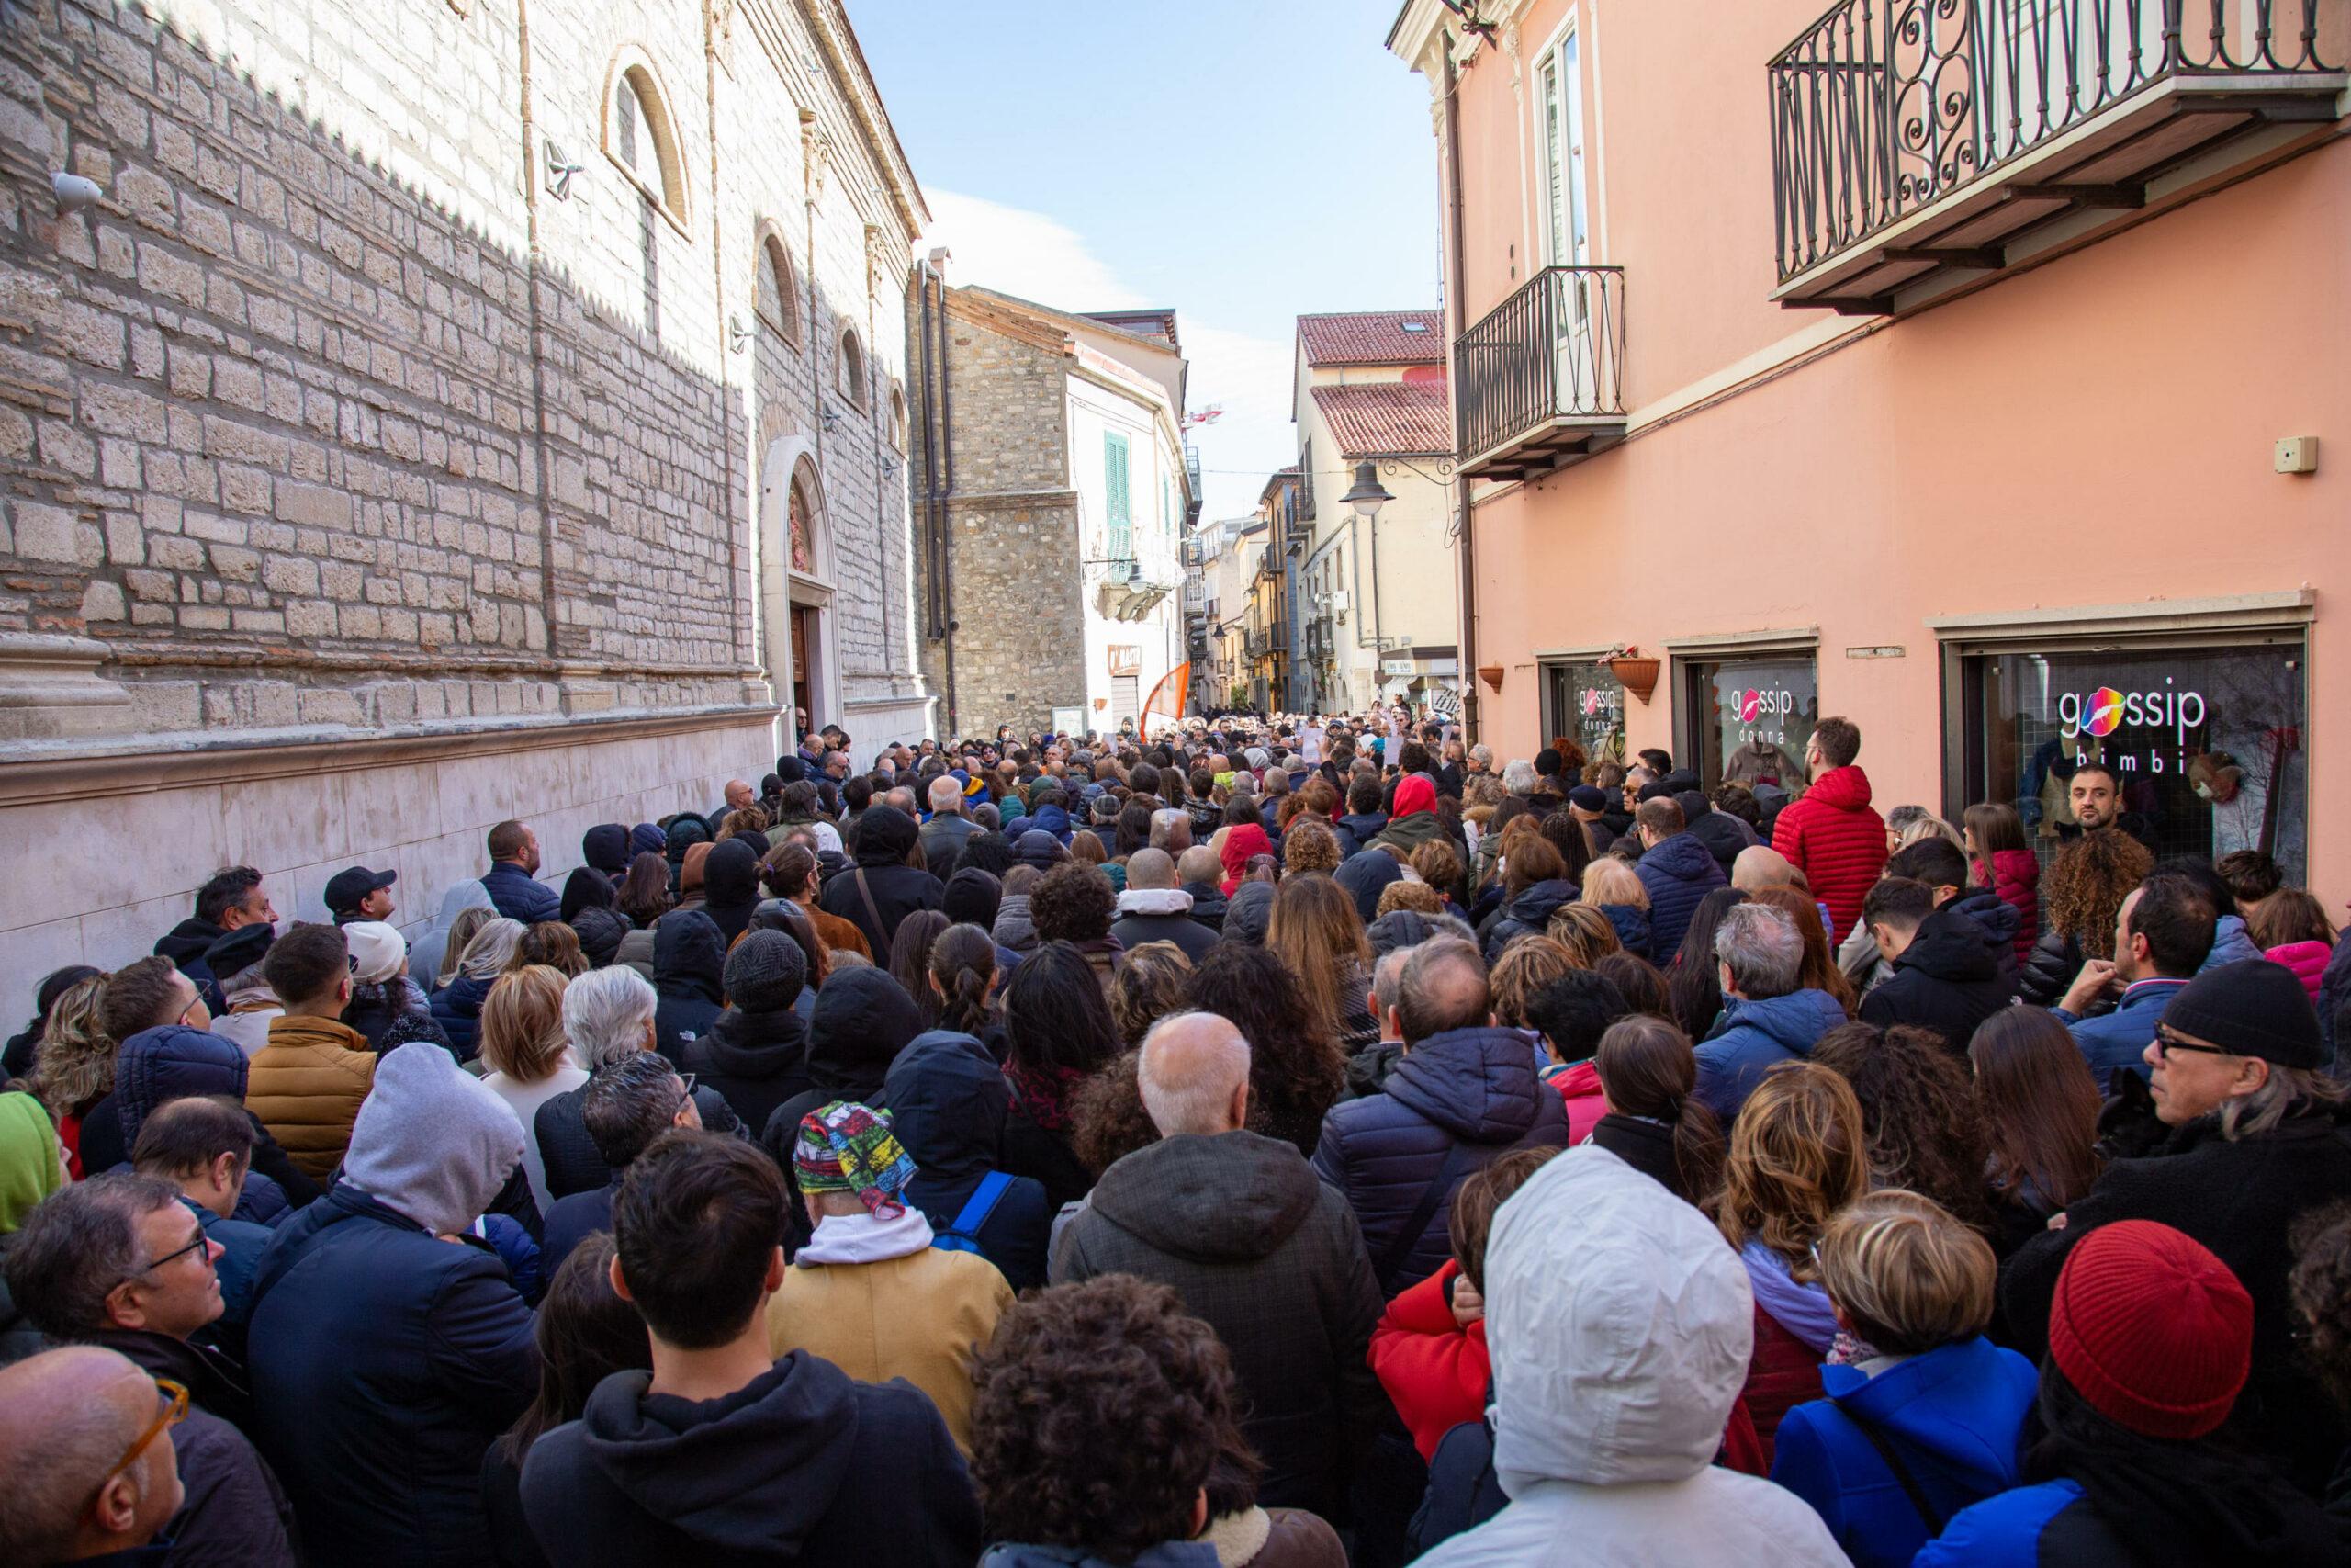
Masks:
[[[1625,440],[1625,268],[1552,266],[1453,343],[1472,480],[1526,480]]]

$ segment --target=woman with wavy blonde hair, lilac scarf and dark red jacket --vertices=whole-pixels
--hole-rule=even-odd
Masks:
[[[1714,1222],[1747,1265],[1756,1300],[1742,1401],[1766,1460],[1780,1418],[1820,1399],[1820,1363],[1836,1345],[1836,1307],[1820,1288],[1813,1244],[1864,1192],[1869,1147],[1853,1084],[1813,1063],[1766,1072],[1730,1124],[1714,1199]]]

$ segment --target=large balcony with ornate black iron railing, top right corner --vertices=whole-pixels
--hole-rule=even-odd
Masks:
[[[1782,306],[1907,310],[2323,141],[2351,0],[1841,0],[1770,63]]]

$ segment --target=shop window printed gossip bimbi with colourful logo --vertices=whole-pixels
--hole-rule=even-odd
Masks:
[[[2156,856],[2306,856],[2306,682],[2299,632],[2215,646],[1998,651],[1961,661],[1965,799],[2003,799],[2043,860],[2071,839],[2067,780],[2099,759],[2123,827]]]

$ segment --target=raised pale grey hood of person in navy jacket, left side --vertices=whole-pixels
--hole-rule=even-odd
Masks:
[[[505,1100],[430,1039],[376,1058],[376,1086],[350,1126],[343,1175],[433,1234],[470,1227],[522,1164]]]

